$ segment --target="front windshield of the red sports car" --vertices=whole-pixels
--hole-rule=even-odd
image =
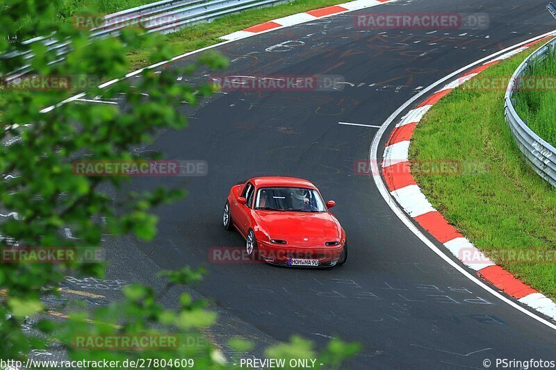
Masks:
[[[256,194],[255,209],[326,212],[320,194],[314,189],[302,187],[263,187]]]

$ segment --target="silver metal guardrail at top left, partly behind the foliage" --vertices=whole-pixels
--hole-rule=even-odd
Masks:
[[[122,28],[129,26],[142,26],[147,30],[147,33],[172,33],[190,24],[210,22],[215,18],[234,12],[270,6],[285,1],[288,0],[162,0],[106,15],[104,24],[91,28],[90,37],[113,37],[119,34]],[[60,62],[65,54],[70,51],[71,42],[69,40],[55,40],[53,36],[34,37],[23,43],[42,42],[47,46],[47,51],[54,51],[58,56],[51,63]],[[34,56],[31,52],[22,55],[26,60],[31,60]],[[11,56],[15,56],[15,54]],[[0,56],[0,60],[11,56]],[[5,80],[14,80],[29,72],[31,72],[31,63],[11,72]]]

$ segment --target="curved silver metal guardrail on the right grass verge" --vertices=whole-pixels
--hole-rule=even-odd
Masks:
[[[525,155],[525,159],[534,171],[553,187],[556,187],[556,149],[534,133],[518,116],[514,108],[515,98],[512,98],[512,95],[516,89],[519,89],[519,80],[528,72],[528,69],[554,53],[555,46],[556,38],[523,60],[509,80],[504,96],[506,121],[519,150]]]

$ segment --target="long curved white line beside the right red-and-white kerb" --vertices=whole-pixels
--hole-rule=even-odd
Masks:
[[[428,87],[426,87],[423,91],[421,91],[418,94],[412,96],[411,99],[406,101],[402,106],[400,106],[400,108],[395,110],[395,112],[393,112],[392,115],[388,119],[386,119],[386,121],[384,122],[382,127],[379,128],[379,131],[376,133],[375,137],[373,138],[373,142],[370,145],[370,151],[369,151],[370,166],[372,167],[371,168],[371,171],[372,171],[371,173],[373,173],[373,174],[378,174],[379,173],[379,169],[378,169],[378,165],[377,165],[377,153],[378,153],[378,146],[379,146],[380,141],[382,139],[382,135],[384,135],[384,133],[386,132],[386,129],[388,129],[388,127],[394,121],[394,119],[396,117],[398,117],[401,112],[406,110],[407,107],[409,107],[417,99],[419,99],[424,94],[427,94],[427,92],[430,92],[435,87],[441,85],[441,83],[444,83],[445,81],[450,80],[450,78],[454,78],[455,76],[461,74],[461,72],[465,72],[467,69],[470,69],[471,67],[475,67],[476,65],[480,65],[480,63],[482,63],[482,62],[485,62],[486,60],[490,60],[491,58],[496,58],[497,56],[500,56],[500,55],[506,53],[507,51],[513,50],[514,48],[522,47],[523,45],[528,44],[529,42],[532,42],[534,40],[539,40],[539,39],[541,39],[543,37],[546,37],[548,35],[554,35],[555,33],[556,33],[556,30],[553,30],[553,31],[544,33],[543,35],[539,35],[537,37],[532,37],[529,40],[525,40],[525,41],[520,42],[519,44],[516,44],[512,47],[508,47],[504,50],[493,53],[490,56],[486,56],[486,57],[484,57],[480,60],[477,60],[476,62],[473,62],[469,65],[466,65],[465,67],[461,67],[457,71],[452,72],[451,74],[448,74],[448,76],[445,76],[445,77],[441,78],[439,81],[436,81],[432,85],[429,85]],[[384,185],[382,177],[381,176],[373,176],[373,180],[375,181],[375,185],[377,186],[377,189],[379,190],[380,194],[382,195],[382,198],[384,199],[384,201],[386,201],[386,203],[389,205],[389,207],[394,212],[394,214],[396,216],[398,216],[398,219],[400,219],[400,221],[402,221],[404,223],[404,225],[407,226],[407,228],[409,228],[409,230],[411,230],[411,232],[414,233],[414,235],[416,235],[416,237],[418,237],[421,240],[421,242],[423,242],[423,244],[425,244],[431,251],[436,253],[436,255],[438,255],[440,258],[442,258],[446,263],[450,264],[450,266],[454,267],[457,271],[459,271],[462,275],[464,275],[466,278],[471,280],[473,283],[482,287],[484,290],[486,290],[486,292],[489,292],[490,294],[492,294],[496,298],[500,299],[500,301],[502,301],[504,303],[507,303],[508,305],[512,306],[512,308],[515,308],[516,310],[519,310],[519,311],[523,312],[524,314],[528,315],[532,319],[537,320],[540,323],[543,323],[544,325],[548,326],[548,328],[556,330],[556,325],[554,323],[551,323],[550,321],[548,321],[546,319],[543,319],[542,317],[538,316],[537,314],[534,314],[534,312],[531,312],[531,311],[521,307],[521,305],[518,305],[518,303],[512,301],[512,299],[507,298],[506,296],[503,296],[499,292],[496,292],[496,290],[492,289],[491,287],[489,287],[488,285],[483,283],[482,280],[480,280],[476,276],[471,275],[466,269],[464,269],[464,267],[461,267],[457,262],[450,259],[448,257],[448,255],[446,255],[443,251],[441,251],[438,247],[436,247],[436,245],[434,245],[433,242],[431,242],[429,239],[427,239],[427,237],[425,237],[425,235],[417,228],[417,226],[415,226],[413,224],[411,219],[409,219],[409,217],[404,213],[404,211],[402,211],[400,209],[400,207],[398,207],[398,205],[395,203],[395,201],[393,201],[390,193],[388,192],[388,189],[386,189],[386,185]],[[532,294],[530,294],[530,295],[532,296]]]

